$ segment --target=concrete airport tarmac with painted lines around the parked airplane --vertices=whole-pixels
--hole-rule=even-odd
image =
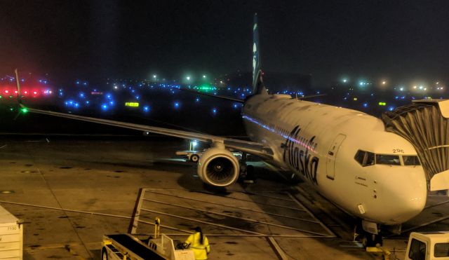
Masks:
[[[210,259],[381,259],[351,241],[351,217],[262,163],[254,184],[217,191],[194,164],[172,159],[187,149],[180,139],[25,135],[4,136],[1,146],[0,205],[24,221],[24,259],[100,259],[103,234],[126,233],[134,221],[145,237],[154,217],[178,240],[201,226]],[[404,230],[447,226],[446,200],[429,197],[424,217]],[[384,247],[403,259],[405,241],[387,238]]]

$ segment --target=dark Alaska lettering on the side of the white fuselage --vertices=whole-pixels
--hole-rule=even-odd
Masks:
[[[318,169],[319,158],[316,156],[312,157],[309,154],[310,150],[315,151],[316,149],[315,137],[300,142],[297,139],[300,131],[300,126],[295,126],[286,138],[286,142],[281,144],[281,148],[283,148],[283,161],[295,168],[304,177],[310,179],[313,184],[318,185],[316,181],[316,170]],[[305,151],[300,146],[302,146],[301,148],[305,147]]]

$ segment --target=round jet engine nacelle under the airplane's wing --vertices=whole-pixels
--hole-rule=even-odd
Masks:
[[[229,186],[239,178],[239,160],[224,148],[207,149],[199,158],[198,176],[206,184]]]

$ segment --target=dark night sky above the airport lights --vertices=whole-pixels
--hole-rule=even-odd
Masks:
[[[449,1],[0,0],[0,74],[180,78],[266,71],[449,82]]]

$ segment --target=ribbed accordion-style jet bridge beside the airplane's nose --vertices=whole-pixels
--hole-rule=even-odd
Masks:
[[[415,146],[429,189],[449,189],[449,100],[413,100],[382,114],[382,121]]]

